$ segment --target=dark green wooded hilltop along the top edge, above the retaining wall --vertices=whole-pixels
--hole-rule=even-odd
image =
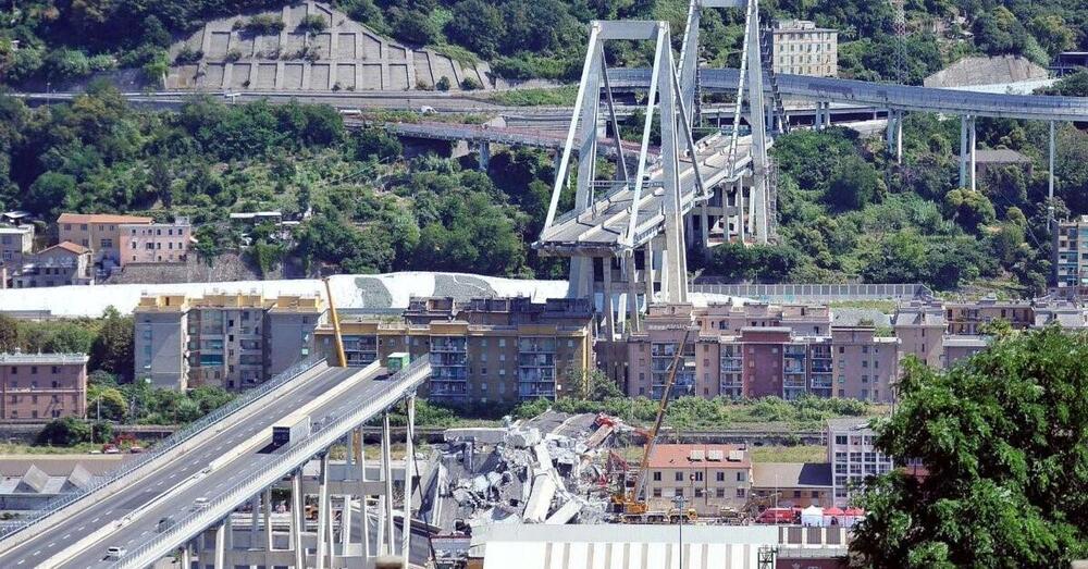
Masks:
[[[23,0],[0,8],[0,77],[65,79],[116,67],[161,76],[165,48],[201,22],[279,8],[284,0]],[[349,17],[412,46],[461,61],[487,60],[509,78],[573,79],[591,20],[667,20],[679,49],[685,0],[333,0]],[[908,0],[906,39],[893,36],[889,2],[765,0],[764,18],[805,17],[840,30],[846,77],[917,84],[970,53],[1022,54],[1046,63],[1065,49],[1088,49],[1088,5],[1079,0]],[[704,57],[735,65],[743,37],[738,10],[707,11]],[[960,23],[957,15],[966,15]],[[255,24],[256,25],[256,24]],[[941,30],[934,34],[934,29]],[[20,49],[13,49],[12,40]],[[645,64],[644,47],[616,44],[615,64]],[[900,61],[902,60],[902,63]]]

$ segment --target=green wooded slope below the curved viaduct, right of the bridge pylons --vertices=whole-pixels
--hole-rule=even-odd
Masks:
[[[1078,79],[1063,82],[1059,88]],[[904,161],[851,131],[779,137],[778,245],[714,249],[705,274],[731,281],[922,282],[953,289],[1009,281],[1039,293],[1050,273],[1047,125],[980,120],[980,146],[1017,150],[1034,168],[990,168],[978,190],[959,187],[960,123],[915,114]],[[1088,213],[1088,135],[1059,126],[1055,213]]]

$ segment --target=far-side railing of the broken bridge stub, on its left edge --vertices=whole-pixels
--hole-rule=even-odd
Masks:
[[[246,406],[248,406],[249,404],[254,403],[255,400],[263,397],[269,392],[271,392],[271,391],[275,389],[276,387],[280,387],[280,386],[284,385],[285,383],[287,383],[287,382],[289,382],[289,381],[298,378],[299,375],[301,375],[301,374],[306,373],[307,371],[313,369],[316,366],[318,366],[319,363],[321,363],[323,361],[324,361],[323,358],[317,358],[317,357],[314,357],[314,358],[310,358],[310,359],[300,361],[300,362],[296,363],[295,366],[292,366],[290,368],[288,368],[287,370],[285,370],[283,373],[281,373],[279,375],[276,375],[275,378],[273,378],[273,379],[271,379],[271,380],[269,380],[269,381],[260,384],[259,386],[257,386],[257,387],[255,387],[252,389],[249,389],[249,391],[245,392],[244,394],[242,394],[242,396],[235,398],[231,403],[228,403],[228,404],[220,407],[219,409],[215,409],[214,411],[212,411],[212,412],[203,416],[199,420],[189,423],[184,429],[175,431],[174,434],[172,434],[169,437],[162,440],[161,442],[159,442],[158,444],[156,444],[153,447],[151,447],[148,452],[143,453],[140,455],[135,455],[131,460],[125,460],[116,470],[113,470],[107,477],[102,477],[102,478],[96,479],[97,481],[94,484],[87,486],[83,491],[81,491],[81,492],[73,492],[71,494],[62,494],[61,496],[58,496],[57,498],[53,498],[52,500],[50,500],[46,505],[46,507],[44,507],[44,508],[41,508],[39,510],[35,510],[33,515],[30,515],[29,517],[25,518],[24,520],[21,520],[18,523],[11,524],[11,525],[4,525],[4,527],[0,528],[0,539],[10,537],[10,536],[12,536],[12,535],[14,535],[14,534],[16,534],[16,533],[25,530],[26,528],[29,528],[30,525],[33,525],[34,523],[38,522],[39,520],[41,520],[44,518],[47,518],[49,516],[52,516],[53,514],[57,514],[61,509],[66,508],[66,507],[71,506],[72,504],[75,504],[76,502],[78,502],[78,500],[81,500],[81,499],[89,496],[90,494],[94,494],[98,490],[100,490],[100,488],[102,488],[102,487],[104,487],[104,486],[107,486],[109,484],[112,484],[114,482],[118,482],[118,481],[120,481],[121,479],[123,479],[125,477],[128,477],[129,474],[132,474],[136,470],[139,470],[145,465],[147,465],[147,463],[151,462],[152,460],[154,460],[154,459],[157,459],[157,458],[165,455],[166,453],[170,453],[171,450],[177,448],[178,445],[181,445],[182,443],[185,443],[186,441],[193,438],[194,436],[196,436],[198,433],[200,433],[205,429],[208,429],[209,426],[211,426],[212,424],[215,424],[217,422],[221,421],[222,419],[224,419],[224,418],[226,418],[226,417],[228,417],[231,415],[234,415],[235,412],[237,412],[238,410],[245,408]]]

